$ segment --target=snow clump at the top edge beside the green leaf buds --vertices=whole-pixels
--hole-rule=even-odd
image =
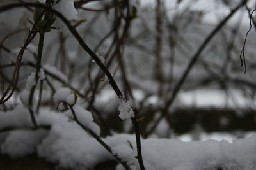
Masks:
[[[61,0],[53,6],[53,9],[59,11],[69,21],[77,20],[77,10],[74,7],[74,0]],[[68,28],[59,18],[56,18],[54,25],[58,27],[60,32],[66,35],[68,34]]]

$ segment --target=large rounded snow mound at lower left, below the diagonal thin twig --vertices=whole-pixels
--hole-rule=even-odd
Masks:
[[[77,124],[54,124],[38,146],[38,155],[67,169],[90,169],[111,155]]]

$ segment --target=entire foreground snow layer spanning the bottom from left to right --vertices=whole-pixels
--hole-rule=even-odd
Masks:
[[[99,134],[90,112],[74,106],[82,124]],[[65,114],[42,108],[36,120],[51,129],[10,131],[1,139],[1,153],[21,157],[37,153],[61,168],[92,169],[101,162],[115,160],[92,136],[79,125],[68,122]],[[14,110],[0,113],[0,129],[30,127],[29,113],[19,105]],[[96,128],[95,128],[96,127]],[[95,130],[98,129],[98,130]],[[102,138],[131,169],[139,169],[135,158],[134,134],[113,134]],[[253,169],[256,166],[256,136],[233,141],[212,140],[183,142],[179,139],[141,139],[146,169]],[[123,169],[121,165],[117,169]]]

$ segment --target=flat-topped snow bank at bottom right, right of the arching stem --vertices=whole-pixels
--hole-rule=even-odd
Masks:
[[[253,136],[230,144],[214,140],[185,143],[150,138],[142,143],[144,162],[146,169],[252,169],[256,163],[255,139]]]

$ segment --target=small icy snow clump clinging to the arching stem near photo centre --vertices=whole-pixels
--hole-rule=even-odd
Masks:
[[[125,100],[124,96],[119,97],[118,110],[120,112],[119,117],[122,120],[134,117],[134,112],[130,106],[130,103],[129,103],[129,101]]]

